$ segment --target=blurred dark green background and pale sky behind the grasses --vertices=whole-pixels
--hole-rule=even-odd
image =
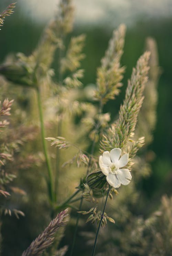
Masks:
[[[1,0],[0,11],[13,1]],[[15,12],[5,21],[0,31],[0,62],[8,53],[31,54],[41,33],[53,17],[56,0],[19,0]],[[152,174],[143,180],[143,191],[151,200],[162,194],[172,193],[172,1],[171,0],[75,0],[75,25],[73,35],[86,34],[82,62],[85,76],[84,85],[95,83],[96,68],[100,65],[111,37],[112,30],[120,23],[127,25],[122,65],[126,66],[116,108],[124,97],[127,80],[132,67],[143,53],[148,36],[157,41],[159,66],[161,67],[158,85],[157,125],[154,140],[149,149],[155,153]],[[68,40],[68,39],[66,39]],[[54,61],[53,68],[57,65]],[[105,111],[116,114],[109,102]]]

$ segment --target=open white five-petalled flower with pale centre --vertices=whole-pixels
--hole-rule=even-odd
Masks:
[[[99,157],[99,165],[103,174],[106,175],[107,182],[114,188],[119,188],[120,185],[128,185],[131,181],[131,173],[128,169],[120,169],[128,163],[128,154],[121,156],[121,149],[114,148],[110,151],[105,151],[103,156]]]

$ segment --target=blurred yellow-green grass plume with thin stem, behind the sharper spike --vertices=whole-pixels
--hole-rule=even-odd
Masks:
[[[117,31],[114,31],[114,34],[109,42],[108,50],[105,53],[105,57],[101,60],[101,67],[97,70],[97,92],[95,94],[95,99],[99,102],[99,109],[91,154],[88,162],[87,175],[90,171],[92,156],[94,154],[96,136],[100,128],[99,117],[102,114],[103,106],[109,99],[114,99],[115,95],[118,95],[118,88],[122,85],[120,81],[122,79],[124,68],[120,67],[120,58],[123,53],[125,30],[125,25],[121,25]],[[116,71],[116,75],[114,75],[114,70]],[[77,230],[78,222],[79,216],[77,217],[75,230]],[[71,251],[71,256],[72,254],[73,250]]]

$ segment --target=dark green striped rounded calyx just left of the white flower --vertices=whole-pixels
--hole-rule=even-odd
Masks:
[[[88,174],[86,181],[89,188],[102,189],[106,183],[106,176],[101,171],[93,172]]]

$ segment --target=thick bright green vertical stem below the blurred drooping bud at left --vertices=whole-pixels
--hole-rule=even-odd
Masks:
[[[42,138],[42,144],[44,149],[44,155],[45,155],[45,161],[46,166],[48,170],[49,180],[47,181],[47,186],[50,191],[50,200],[53,203],[54,202],[54,192],[53,192],[53,173],[47,153],[47,147],[45,143],[45,129],[44,129],[44,120],[43,120],[43,113],[42,113],[42,104],[41,104],[41,95],[40,90],[37,89],[37,102],[38,102],[38,108],[39,108],[39,116],[40,116],[40,124],[41,124],[41,138]]]

